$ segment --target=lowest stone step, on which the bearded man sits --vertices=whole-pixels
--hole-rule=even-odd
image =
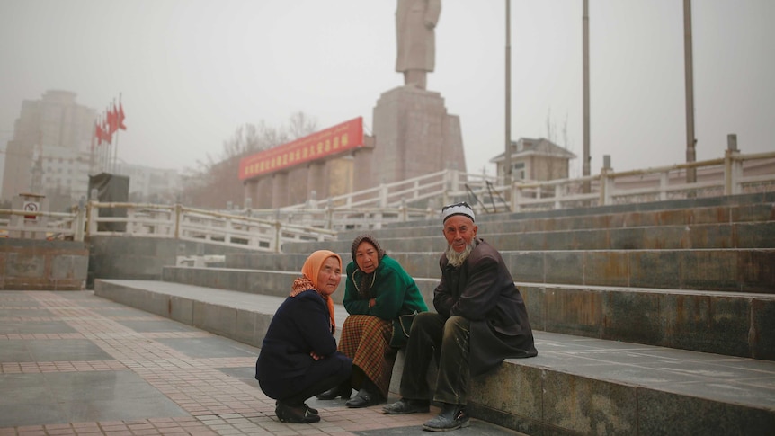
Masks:
[[[282,301],[140,280],[95,280],[94,293],[259,347]],[[343,322],[343,307],[335,313]],[[775,362],[541,331],[535,336],[538,357],[506,360],[472,379],[472,416],[527,434],[764,435],[775,428]],[[393,378],[393,392],[399,381]]]

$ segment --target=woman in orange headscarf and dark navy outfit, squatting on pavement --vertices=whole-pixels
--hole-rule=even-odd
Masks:
[[[328,250],[307,257],[302,276],[278,307],[255,362],[263,393],[277,400],[283,423],[316,423],[317,411],[304,402],[350,378],[352,359],[336,351],[334,302],[342,280],[342,259]]]

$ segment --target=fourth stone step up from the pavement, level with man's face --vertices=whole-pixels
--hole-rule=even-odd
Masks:
[[[447,247],[441,227],[432,236],[379,238],[388,253],[436,251]],[[384,232],[383,232],[384,233]],[[691,248],[775,248],[775,221],[735,224],[692,224],[659,227],[614,227],[553,231],[497,233],[483,226],[478,236],[493,241],[499,250],[659,250]],[[375,236],[376,237],[376,236]],[[282,252],[309,254],[315,250],[348,253],[352,239],[299,242],[282,245]]]

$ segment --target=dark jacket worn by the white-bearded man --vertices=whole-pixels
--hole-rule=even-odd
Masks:
[[[494,369],[503,359],[538,354],[525,302],[503,257],[483,239],[455,268],[441,254],[441,282],[433,306],[441,316],[471,322],[469,369],[472,376]]]

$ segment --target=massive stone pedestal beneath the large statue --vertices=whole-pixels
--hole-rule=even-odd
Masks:
[[[457,115],[447,113],[441,93],[400,86],[374,107],[374,186],[446,169],[466,172]]]

